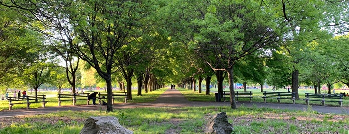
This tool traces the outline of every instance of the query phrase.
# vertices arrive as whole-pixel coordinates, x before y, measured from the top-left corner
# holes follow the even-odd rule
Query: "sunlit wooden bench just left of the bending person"
[[[58,94],[58,106],[60,106],[62,101],[73,101],[73,105],[76,104],[77,100],[87,100],[89,102],[88,95],[90,93],[80,93],[80,94]]]

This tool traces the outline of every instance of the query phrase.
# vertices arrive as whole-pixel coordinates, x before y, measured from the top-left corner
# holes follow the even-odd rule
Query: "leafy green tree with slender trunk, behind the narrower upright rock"
[[[269,10],[260,9],[262,7],[254,1],[212,1],[205,6],[198,9],[202,17],[193,21],[198,28],[192,44],[206,62],[210,56],[217,60],[220,68],[207,63],[215,71],[227,72],[230,93],[234,94],[236,62],[259,49],[274,46],[279,41],[282,27],[274,23],[280,22],[278,18],[271,17]],[[234,95],[231,95],[231,108],[236,108]]]

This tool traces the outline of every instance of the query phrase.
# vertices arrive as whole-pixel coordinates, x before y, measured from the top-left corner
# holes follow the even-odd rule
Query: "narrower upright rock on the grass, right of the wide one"
[[[205,133],[231,133],[233,125],[228,123],[227,113],[221,112],[208,119]]]

